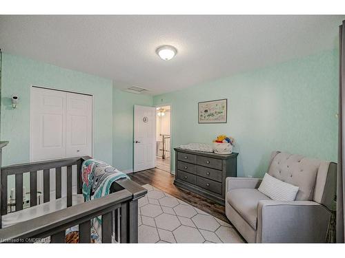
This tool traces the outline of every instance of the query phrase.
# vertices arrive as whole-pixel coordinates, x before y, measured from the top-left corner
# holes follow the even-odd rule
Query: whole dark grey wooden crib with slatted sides
[[[8,142],[0,142],[1,149]],[[114,182],[110,195],[90,202],[74,203],[72,194],[72,166],[77,166],[77,196],[81,196],[81,164],[90,157],[66,158],[26,164],[4,166],[0,169],[1,216],[0,242],[31,243],[37,239],[50,237],[50,243],[64,243],[66,229],[79,225],[79,243],[90,243],[91,220],[101,216],[101,242],[137,243],[138,241],[138,199],[146,195],[147,190],[129,179]],[[61,197],[61,169],[66,167],[66,197]],[[43,204],[37,204],[37,173],[43,171]],[[52,173],[55,171],[55,173]],[[23,209],[23,174],[30,173],[29,208]],[[55,198],[50,200],[50,178],[55,174]],[[15,177],[15,211],[8,213],[8,177]],[[79,195],[78,195],[79,194]],[[49,210],[59,202],[63,208],[51,213],[30,217]],[[43,208],[42,208],[43,207]],[[19,214],[22,221],[12,226],[4,225],[5,220]],[[23,214],[21,214],[23,213]],[[18,216],[17,216],[18,217]]]

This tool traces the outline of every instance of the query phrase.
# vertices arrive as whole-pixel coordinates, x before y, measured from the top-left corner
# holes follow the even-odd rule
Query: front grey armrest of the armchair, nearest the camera
[[[324,243],[331,213],[310,201],[262,200],[257,205],[257,242]]]

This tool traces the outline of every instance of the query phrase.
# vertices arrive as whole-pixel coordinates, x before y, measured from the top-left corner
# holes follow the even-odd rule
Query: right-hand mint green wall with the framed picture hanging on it
[[[228,98],[228,123],[199,125],[197,103],[219,98]],[[155,96],[154,104],[172,105],[173,147],[233,136],[239,175],[256,177],[273,150],[337,161],[337,98],[333,50]]]

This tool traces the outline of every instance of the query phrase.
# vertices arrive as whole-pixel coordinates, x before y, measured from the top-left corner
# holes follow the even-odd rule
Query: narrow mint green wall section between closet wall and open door
[[[117,169],[132,171],[134,105],[152,106],[152,96],[121,91],[114,85],[112,91],[113,131],[112,162]]]

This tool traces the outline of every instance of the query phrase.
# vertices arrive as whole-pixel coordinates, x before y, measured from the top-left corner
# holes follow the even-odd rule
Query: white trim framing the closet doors
[[[74,94],[82,94],[82,95],[87,95],[87,96],[91,96],[92,98],[92,139],[91,139],[91,155],[93,158],[93,155],[95,153],[95,96],[94,94],[89,94],[89,93],[85,93],[85,92],[73,92],[73,91],[68,91],[66,89],[57,89],[55,87],[43,87],[43,86],[38,86],[38,85],[30,85],[30,119],[29,119],[29,160],[30,162],[32,162],[32,137],[31,137],[31,126],[32,126],[32,88],[39,88],[39,89],[50,89],[50,90],[55,90],[58,92],[69,92],[69,93],[74,93]]]

